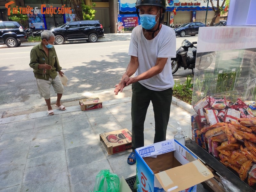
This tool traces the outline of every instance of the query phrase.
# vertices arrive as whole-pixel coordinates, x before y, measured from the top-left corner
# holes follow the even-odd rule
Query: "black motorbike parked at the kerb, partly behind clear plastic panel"
[[[188,48],[196,48],[194,44],[197,42],[190,43],[187,39],[182,41],[181,47],[176,51],[176,58],[172,58],[172,74],[176,73],[179,68],[183,67],[184,69],[192,69],[196,66],[196,49],[192,51],[193,55],[188,55]],[[200,54],[199,63],[201,65],[197,66],[198,70],[205,69],[209,67],[212,63],[212,52],[205,52],[204,54]]]

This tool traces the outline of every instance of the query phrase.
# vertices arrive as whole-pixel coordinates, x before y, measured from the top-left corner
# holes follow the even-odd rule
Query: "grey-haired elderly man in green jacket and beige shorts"
[[[41,97],[44,97],[48,107],[48,114],[54,115],[51,106],[50,87],[52,85],[55,93],[57,93],[57,101],[55,107],[60,110],[66,110],[61,105],[60,99],[64,92],[63,85],[60,81],[58,73],[63,76],[56,51],[53,47],[55,36],[52,32],[45,30],[41,33],[42,42],[35,45],[30,52],[29,66],[33,68],[36,77],[37,89]]]

